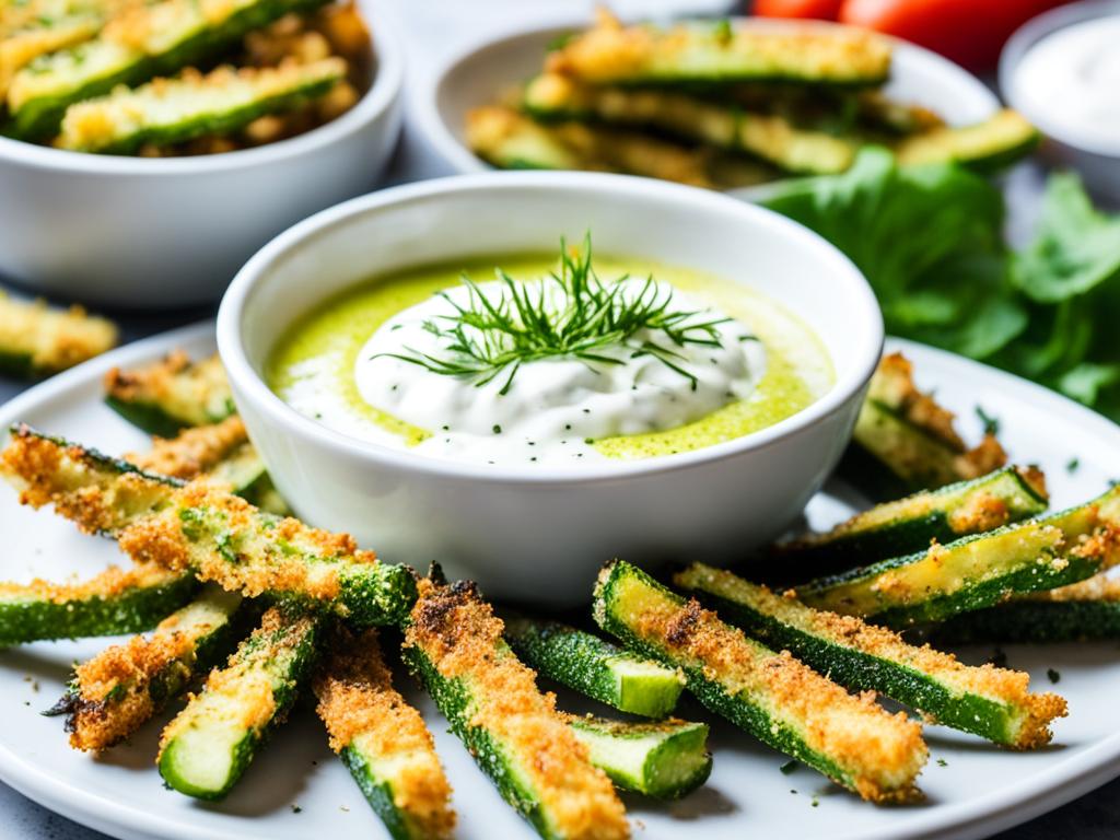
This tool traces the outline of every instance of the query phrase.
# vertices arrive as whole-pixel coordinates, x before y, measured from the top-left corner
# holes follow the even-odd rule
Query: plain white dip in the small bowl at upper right
[[[1120,146],[1120,15],[1058,29],[1024,55],[1012,84],[1021,109],[1082,143]]]

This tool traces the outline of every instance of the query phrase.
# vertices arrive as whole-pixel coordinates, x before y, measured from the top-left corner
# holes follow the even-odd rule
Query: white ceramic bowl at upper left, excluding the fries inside
[[[358,6],[373,32],[373,86],[305,134],[166,159],[0,138],[0,277],[100,306],[211,301],[277,233],[367,192],[400,133],[404,63],[374,0]]]

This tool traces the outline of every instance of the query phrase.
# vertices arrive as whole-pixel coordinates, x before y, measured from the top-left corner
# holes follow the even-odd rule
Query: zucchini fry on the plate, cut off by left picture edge
[[[157,563],[111,566],[80,584],[0,584],[0,645],[140,633],[197,588],[190,575]]]

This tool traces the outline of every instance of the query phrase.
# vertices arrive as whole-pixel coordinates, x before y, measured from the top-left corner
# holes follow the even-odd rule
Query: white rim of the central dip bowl
[[[762,225],[783,231],[801,240],[802,249],[810,249],[824,261],[836,265],[831,283],[841,284],[840,293],[849,295],[857,312],[861,311],[867,323],[866,330],[853,330],[858,345],[852,351],[852,362],[847,371],[839,371],[832,386],[811,405],[773,426],[678,455],[643,458],[633,461],[595,464],[579,468],[524,467],[478,465],[467,461],[442,460],[419,456],[408,450],[390,447],[352,437],[330,429],[305,417],[280,399],[258,374],[245,353],[241,325],[249,310],[250,293],[274,264],[288,254],[304,246],[325,231],[349,224],[353,220],[394,206],[417,202],[439,200],[441,196],[493,192],[535,192],[541,189],[567,189],[595,193],[609,190],[620,193],[631,200],[661,200],[680,203],[685,206],[703,207],[725,214],[737,215],[745,224]],[[353,198],[288,228],[254,254],[237,272],[222,298],[217,315],[217,346],[228,373],[234,393],[253,403],[255,410],[271,423],[293,438],[312,438],[320,445],[363,461],[373,461],[390,468],[433,477],[473,479],[480,483],[516,483],[521,485],[569,485],[595,482],[619,482],[627,478],[653,474],[672,473],[678,469],[701,467],[728,457],[743,456],[756,449],[774,446],[806,429],[825,422],[844,405],[857,398],[878,366],[884,343],[883,314],[867,279],[843,253],[831,243],[806,227],[755,205],[708,190],[670,184],[648,178],[603,172],[482,172],[407,184],[391,187],[366,196]],[[836,360],[833,358],[833,364]]]

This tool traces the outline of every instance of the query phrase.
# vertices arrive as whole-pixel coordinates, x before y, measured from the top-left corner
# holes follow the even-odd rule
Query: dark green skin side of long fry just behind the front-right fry
[[[688,570],[676,584],[715,609],[729,624],[774,650],[787,650],[806,665],[841,685],[877,691],[913,709],[925,712],[939,724],[972,732],[997,744],[1014,745],[1015,728],[1007,704],[973,693],[952,691],[922,671],[857,650],[838,640],[825,638],[805,628],[783,622],[760,603],[724,597]],[[696,585],[696,586],[693,586]]]

